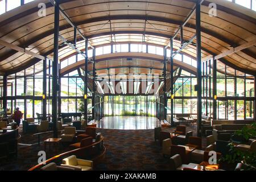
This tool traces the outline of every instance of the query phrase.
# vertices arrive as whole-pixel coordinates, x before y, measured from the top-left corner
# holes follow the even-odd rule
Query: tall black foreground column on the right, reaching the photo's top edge
[[[197,57],[197,136],[201,137],[202,122],[202,75],[201,75],[201,7],[196,2],[196,57]]]

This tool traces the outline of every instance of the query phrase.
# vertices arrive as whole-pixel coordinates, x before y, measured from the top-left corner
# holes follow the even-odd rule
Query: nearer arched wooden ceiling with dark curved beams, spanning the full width
[[[26,48],[40,55],[52,56],[54,10],[48,0],[47,16],[38,16],[38,2],[27,3],[17,9],[0,15],[0,39]],[[195,5],[194,0],[116,1],[89,0],[61,2],[61,8],[73,20],[82,34],[89,38],[93,46],[115,42],[146,42],[166,46],[180,24]],[[209,3],[217,4],[217,16],[208,15]],[[201,6],[201,46],[202,57],[233,49],[256,38],[256,13],[228,1],[208,0]],[[112,31],[110,31],[110,23]],[[146,24],[146,28],[144,27]],[[60,34],[73,40],[73,28],[60,17]],[[195,34],[195,16],[185,25],[184,40]],[[177,36],[177,39],[179,39]],[[78,40],[81,40],[77,37]],[[60,43],[60,59],[73,51]],[[83,48],[83,42],[79,47]],[[176,40],[175,48],[180,45]],[[189,45],[183,52],[196,57],[196,47]],[[249,74],[256,72],[256,48],[243,49],[220,59],[231,67]],[[63,57],[61,57],[63,56]],[[0,70],[13,72],[29,67],[38,59],[0,46]]]

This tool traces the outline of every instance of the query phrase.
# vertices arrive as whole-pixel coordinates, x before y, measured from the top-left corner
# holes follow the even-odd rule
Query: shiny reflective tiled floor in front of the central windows
[[[158,118],[144,116],[105,117],[97,123],[101,129],[148,130],[160,126]]]

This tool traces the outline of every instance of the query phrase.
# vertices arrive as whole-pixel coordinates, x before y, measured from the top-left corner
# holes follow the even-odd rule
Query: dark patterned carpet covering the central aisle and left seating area
[[[174,131],[175,128],[163,129]],[[187,126],[187,131],[196,135],[196,125]],[[104,135],[106,157],[96,166],[96,170],[168,170],[168,159],[164,158],[159,142],[154,140],[154,130],[111,130],[97,129]],[[22,134],[22,133],[21,133]],[[41,140],[52,137],[46,135]],[[37,137],[22,134],[19,143],[32,144]],[[203,139],[205,147],[205,139]],[[38,151],[44,150],[43,143],[33,146],[18,145],[18,158],[1,160],[0,170],[27,170],[38,163]],[[47,151],[47,159],[66,150]]]

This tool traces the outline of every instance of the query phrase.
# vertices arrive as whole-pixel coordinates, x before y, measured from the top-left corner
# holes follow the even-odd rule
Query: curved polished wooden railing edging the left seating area
[[[53,156],[52,158],[46,160],[45,162],[40,163],[40,164],[38,164],[38,165],[36,165],[36,166],[34,166],[34,167],[28,169],[28,171],[34,171],[35,169],[39,169],[40,167],[44,166],[45,164],[47,164],[47,163],[49,163],[49,162],[53,162],[53,160],[59,159],[59,158],[61,158],[61,157],[63,157],[63,156],[66,156],[66,155],[71,155],[71,154],[73,154],[73,153],[75,153],[75,152],[79,152],[79,151],[82,151],[82,150],[86,150],[87,148],[96,146],[97,144],[102,144],[103,150],[102,150],[101,154],[98,155],[97,158],[94,158],[93,160],[98,159],[98,158],[101,158],[101,157],[104,156],[105,153],[106,153],[106,147],[103,145],[103,140],[104,140],[104,137],[101,136],[101,139],[100,139],[98,142],[95,142],[95,143],[93,143],[93,144],[90,144],[89,146],[86,146],[86,147],[77,148],[77,149],[75,149],[75,150],[67,151],[67,152],[64,152],[64,153],[62,153],[62,154]]]

